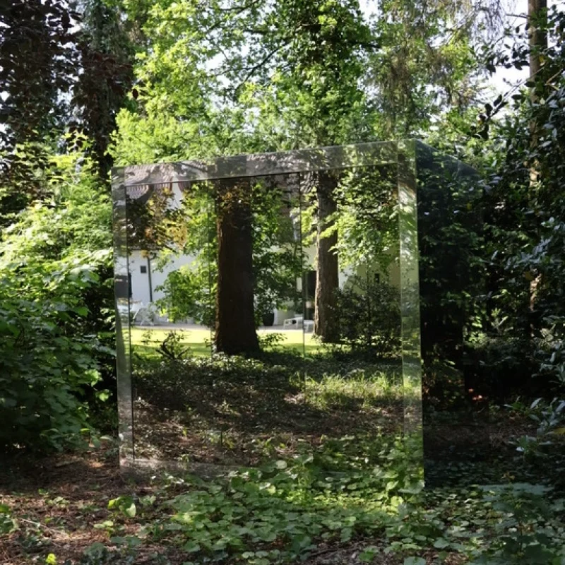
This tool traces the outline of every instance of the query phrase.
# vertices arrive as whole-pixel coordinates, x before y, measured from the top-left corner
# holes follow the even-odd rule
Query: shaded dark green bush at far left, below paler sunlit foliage
[[[88,427],[81,396],[100,381],[100,344],[77,330],[88,315],[81,295],[97,281],[94,268],[37,273],[49,299],[22,297],[25,271],[0,279],[0,446],[61,447]]]

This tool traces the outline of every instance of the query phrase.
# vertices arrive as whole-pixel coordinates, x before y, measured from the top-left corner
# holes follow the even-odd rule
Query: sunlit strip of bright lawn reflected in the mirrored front
[[[131,328],[131,344],[140,354],[153,355],[155,349],[159,347],[167,335],[174,331],[182,335],[182,343],[188,345],[193,350],[196,357],[210,355],[210,341],[213,338],[212,332],[208,328],[175,328],[174,330],[164,328]],[[259,338],[277,333],[284,338],[279,346],[285,349],[295,350],[296,352],[315,353],[321,349],[321,345],[316,342],[311,333],[303,333],[299,330],[280,330],[260,329]]]

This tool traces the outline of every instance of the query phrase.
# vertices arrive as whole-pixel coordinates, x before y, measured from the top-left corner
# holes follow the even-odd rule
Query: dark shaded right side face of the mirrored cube
[[[417,143],[417,221],[427,484],[489,458],[488,391],[472,343],[484,295],[481,184],[462,162]]]

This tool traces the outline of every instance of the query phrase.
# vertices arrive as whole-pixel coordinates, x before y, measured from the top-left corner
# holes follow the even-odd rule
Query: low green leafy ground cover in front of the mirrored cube
[[[105,541],[80,563],[565,564],[563,492],[513,477],[424,488],[418,448],[350,436],[214,479],[155,475],[108,501],[93,525]],[[0,535],[23,532],[15,514],[0,506]]]

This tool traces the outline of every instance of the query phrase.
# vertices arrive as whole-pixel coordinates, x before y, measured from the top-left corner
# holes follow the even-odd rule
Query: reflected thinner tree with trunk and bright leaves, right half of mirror
[[[353,160],[355,162],[355,160]],[[396,167],[349,168],[310,175],[303,183],[305,244],[316,227],[314,333],[339,340],[335,297],[340,271],[398,263]]]

